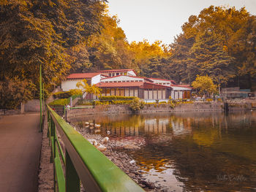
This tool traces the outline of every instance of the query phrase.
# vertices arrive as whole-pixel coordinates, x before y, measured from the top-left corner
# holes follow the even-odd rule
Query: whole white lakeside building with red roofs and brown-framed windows
[[[70,74],[61,82],[63,91],[75,89],[76,84],[86,79],[91,85],[102,88],[103,96],[138,96],[145,100],[190,99],[189,85],[176,85],[173,80],[138,77],[133,69],[113,69],[96,73]]]

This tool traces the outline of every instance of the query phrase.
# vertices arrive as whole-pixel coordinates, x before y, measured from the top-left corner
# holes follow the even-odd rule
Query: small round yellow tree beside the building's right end
[[[197,89],[200,95],[206,94],[209,96],[211,93],[217,93],[217,85],[211,80],[211,77],[197,75],[192,87]]]

